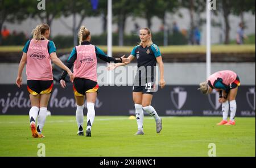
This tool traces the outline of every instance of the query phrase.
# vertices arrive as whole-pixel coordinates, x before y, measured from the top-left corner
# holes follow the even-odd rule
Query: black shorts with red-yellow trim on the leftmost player
[[[27,91],[36,96],[52,92],[53,80],[27,80]]]

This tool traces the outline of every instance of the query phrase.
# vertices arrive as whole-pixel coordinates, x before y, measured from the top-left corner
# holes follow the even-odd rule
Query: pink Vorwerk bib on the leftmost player
[[[53,80],[48,40],[30,41],[27,51],[26,74],[28,80]]]

